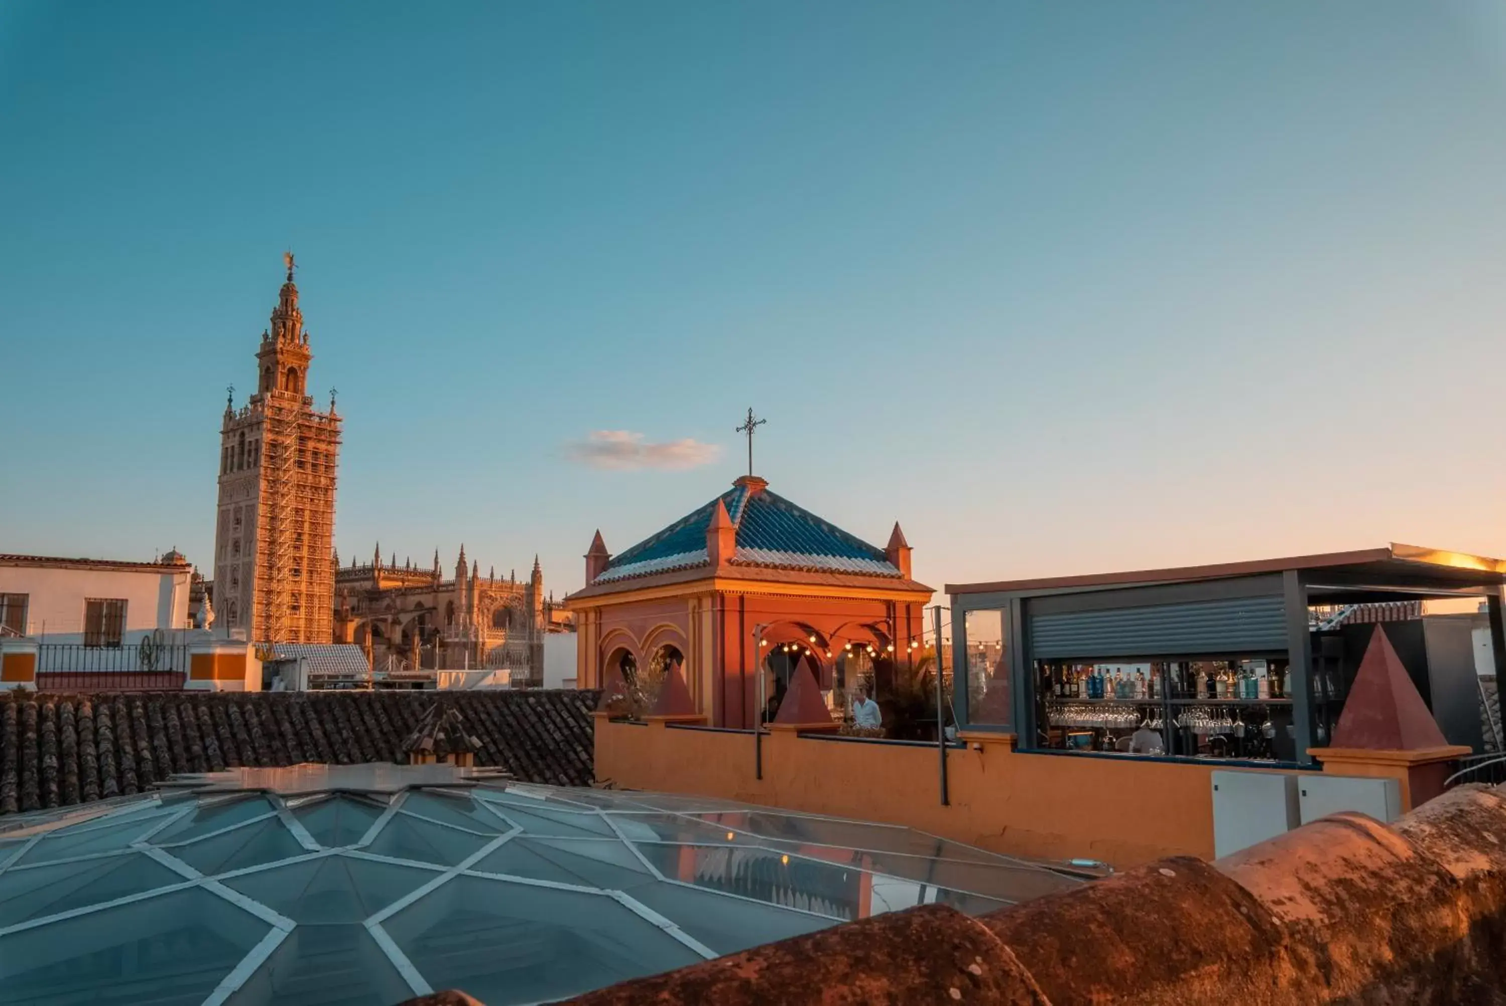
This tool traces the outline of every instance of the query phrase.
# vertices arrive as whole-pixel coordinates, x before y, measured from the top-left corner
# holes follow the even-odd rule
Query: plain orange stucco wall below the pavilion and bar
[[[997,852],[1095,858],[1116,867],[1214,855],[1217,765],[1017,753],[1005,741],[947,753],[950,806],[934,747],[764,736],[596,721],[596,779],[652,789],[905,824]]]

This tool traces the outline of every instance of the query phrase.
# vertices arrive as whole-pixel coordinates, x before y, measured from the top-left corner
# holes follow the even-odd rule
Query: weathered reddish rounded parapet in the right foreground
[[[971,919],[928,905],[571,1000],[626,1003],[1500,1003],[1506,797],[1387,827],[1336,815]]]

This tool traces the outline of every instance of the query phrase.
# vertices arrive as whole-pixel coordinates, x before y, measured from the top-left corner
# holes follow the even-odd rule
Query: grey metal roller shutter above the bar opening
[[[1033,657],[1173,657],[1286,649],[1282,598],[1030,614]]]

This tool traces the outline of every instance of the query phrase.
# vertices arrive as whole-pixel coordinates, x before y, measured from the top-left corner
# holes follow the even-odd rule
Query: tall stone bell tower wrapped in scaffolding
[[[256,351],[256,393],[220,423],[214,607],[256,643],[328,643],[334,608],[334,482],[340,417],[307,395],[309,333],[294,261]]]

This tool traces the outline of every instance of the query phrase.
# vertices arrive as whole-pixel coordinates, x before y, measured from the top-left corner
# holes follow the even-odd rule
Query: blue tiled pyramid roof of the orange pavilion
[[[753,492],[745,485],[736,485],[658,535],[613,556],[596,581],[625,580],[709,562],[706,529],[711,527],[717,500],[726,505],[727,517],[736,527],[736,553],[732,559],[736,565],[901,575],[884,557],[883,548],[869,545],[768,489]]]

